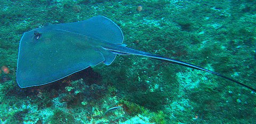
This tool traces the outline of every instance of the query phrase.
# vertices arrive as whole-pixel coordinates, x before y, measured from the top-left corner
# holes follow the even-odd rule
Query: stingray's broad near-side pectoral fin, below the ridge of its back
[[[41,37],[36,39],[32,30],[20,41],[17,83],[22,88],[57,81],[105,60],[86,36],[49,27],[36,30]]]

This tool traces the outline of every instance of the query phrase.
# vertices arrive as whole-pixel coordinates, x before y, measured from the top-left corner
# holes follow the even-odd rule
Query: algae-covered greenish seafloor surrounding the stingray
[[[96,15],[120,26],[127,47],[256,87],[256,1],[4,0],[0,123],[256,123],[256,94],[251,90],[146,57],[117,56],[109,66],[87,68],[48,85],[17,85],[24,32]],[[122,108],[104,114],[115,105]]]

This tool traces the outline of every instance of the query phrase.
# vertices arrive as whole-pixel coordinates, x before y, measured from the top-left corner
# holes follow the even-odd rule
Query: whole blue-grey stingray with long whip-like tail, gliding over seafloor
[[[46,25],[25,32],[20,40],[17,83],[21,88],[58,81],[90,66],[110,65],[116,55],[138,55],[202,70],[253,91],[254,88],[219,73],[180,60],[126,47],[121,29],[105,16]],[[122,75],[121,75],[122,76]]]

